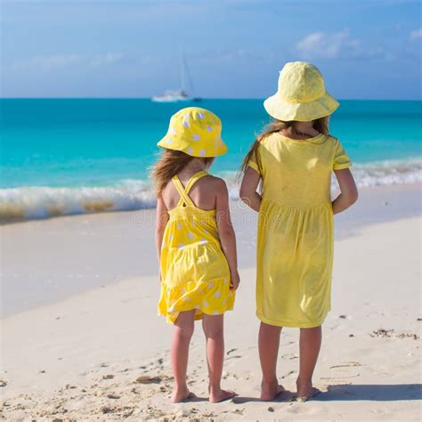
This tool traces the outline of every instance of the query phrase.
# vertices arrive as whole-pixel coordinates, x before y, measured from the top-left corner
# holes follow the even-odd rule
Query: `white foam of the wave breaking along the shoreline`
[[[360,187],[422,182],[422,160],[384,161],[352,167]],[[220,175],[227,181],[231,199],[239,198],[234,172]],[[337,188],[333,177],[332,188]],[[52,188],[30,186],[0,190],[0,220],[45,218],[54,215],[86,214],[155,207],[150,183],[124,180],[110,186]]]

